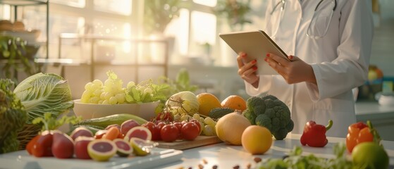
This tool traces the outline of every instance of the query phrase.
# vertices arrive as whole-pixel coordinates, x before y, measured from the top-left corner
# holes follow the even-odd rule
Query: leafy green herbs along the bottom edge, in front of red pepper
[[[257,168],[300,168],[300,169],[342,169],[342,168],[355,168],[352,161],[347,160],[345,156],[346,146],[343,143],[338,143],[333,146],[333,153],[335,158],[320,158],[309,154],[308,156],[302,155],[302,148],[295,146],[290,151],[289,156],[279,158],[267,158],[261,161]]]

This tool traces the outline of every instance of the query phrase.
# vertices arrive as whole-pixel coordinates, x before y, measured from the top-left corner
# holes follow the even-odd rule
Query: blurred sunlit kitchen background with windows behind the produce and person
[[[23,23],[24,31],[13,36],[25,36],[27,46],[37,49],[32,51],[34,68],[68,80],[73,99],[80,99],[87,82],[104,81],[108,70],[125,82],[141,82],[162,76],[173,79],[183,68],[199,87],[197,92],[215,94],[220,100],[231,94],[247,99],[236,54],[218,34],[264,29],[267,1],[248,1],[250,12],[245,18],[250,23],[235,26],[229,25],[234,20],[215,12],[220,0],[182,0],[176,6],[162,6],[166,20],[153,20],[159,14],[144,12],[148,0],[0,0],[0,20]],[[384,140],[394,141],[394,104],[381,105],[376,98],[381,92],[393,92],[394,1],[372,1],[375,30],[370,63],[383,77],[371,73],[372,79],[355,90],[357,120],[372,120]],[[10,32],[0,30],[3,35]],[[1,60],[0,68],[5,64]],[[21,81],[28,75],[13,71],[11,76]]]

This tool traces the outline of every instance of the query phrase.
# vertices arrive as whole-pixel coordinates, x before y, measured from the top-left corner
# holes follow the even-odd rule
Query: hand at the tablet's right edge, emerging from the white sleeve
[[[288,84],[294,84],[298,82],[312,82],[316,84],[316,77],[312,65],[305,63],[297,56],[288,56],[290,61],[281,56],[274,54],[266,54],[266,61],[271,68],[276,70],[279,75],[282,75]]]

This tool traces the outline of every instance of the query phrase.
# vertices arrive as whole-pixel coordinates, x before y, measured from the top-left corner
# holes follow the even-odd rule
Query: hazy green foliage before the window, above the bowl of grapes
[[[163,33],[168,23],[179,15],[181,0],[145,0],[144,33]]]

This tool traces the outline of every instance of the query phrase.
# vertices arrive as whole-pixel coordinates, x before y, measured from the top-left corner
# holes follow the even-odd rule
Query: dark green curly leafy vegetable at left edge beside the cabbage
[[[27,112],[11,91],[11,80],[0,80],[0,154],[18,151],[18,132],[27,122]]]

